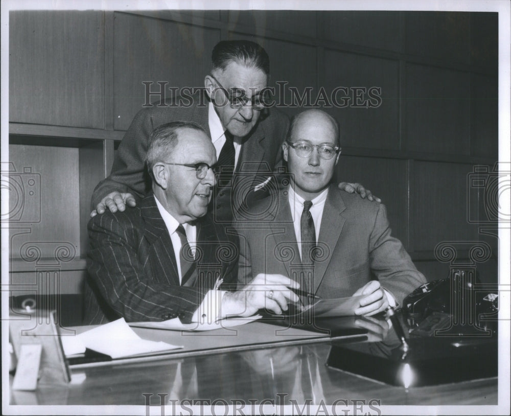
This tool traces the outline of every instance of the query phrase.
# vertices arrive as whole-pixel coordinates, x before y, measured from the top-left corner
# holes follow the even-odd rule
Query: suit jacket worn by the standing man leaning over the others
[[[179,98],[178,98],[179,99]],[[173,105],[166,101],[165,107],[153,105],[143,108],[135,115],[128,131],[115,152],[110,176],[102,180],[92,194],[92,209],[95,209],[101,199],[113,191],[131,192],[136,197],[143,197],[150,190],[150,180],[145,171],[148,138],[153,129],[172,121],[194,121],[207,132],[208,126],[208,100],[203,98],[203,106],[198,96],[193,97],[193,105]],[[185,104],[189,103],[188,100]],[[235,183],[224,190],[218,190],[214,195],[215,219],[229,222],[233,217],[231,203],[234,202],[234,212],[243,206],[250,206],[252,200],[258,198],[253,193],[255,185],[263,182],[271,175],[275,166],[282,159],[281,145],[289,126],[289,120],[282,112],[271,108],[266,109],[260,116],[258,124],[252,132],[245,137],[242,145]],[[231,199],[230,191],[235,190]],[[250,192],[249,192],[250,191]]]

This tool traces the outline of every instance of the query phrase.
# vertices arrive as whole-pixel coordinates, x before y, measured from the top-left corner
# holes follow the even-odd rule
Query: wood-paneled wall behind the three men
[[[65,171],[61,186],[53,173],[57,180],[51,186],[41,183],[41,194],[50,195],[43,234],[53,238],[49,230],[55,228],[59,238],[83,246],[91,183],[78,178],[76,163],[83,174],[102,166],[108,172],[102,165],[111,163],[108,149],[145,102],[142,82],[202,86],[215,43],[253,39],[270,56],[270,85],[286,81],[300,92],[312,87],[313,98],[321,87],[328,93],[339,86],[381,88],[376,108],[325,108],[342,131],[336,175],[382,197],[393,234],[428,278],[437,279],[449,265],[435,260],[436,244],[481,239],[467,217],[469,211],[484,216],[482,194],[470,195],[468,175],[476,165],[491,170],[498,157],[497,27],[496,13],[11,12],[11,131],[57,134],[61,146],[74,133],[104,142],[80,155],[49,148],[48,158],[46,151],[18,144],[11,157],[49,179],[49,167],[39,168],[36,160]],[[153,84],[153,91],[158,88]],[[285,100],[290,99],[287,90]],[[300,110],[284,108],[290,115]],[[89,157],[99,161],[90,159],[87,166]],[[55,208],[69,202],[72,210]],[[61,218],[76,223],[59,227]],[[496,275],[497,243],[488,241],[493,258],[484,267]]]

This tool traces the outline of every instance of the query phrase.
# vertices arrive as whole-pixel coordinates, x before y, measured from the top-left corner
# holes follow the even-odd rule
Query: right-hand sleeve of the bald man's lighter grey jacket
[[[388,290],[400,305],[417,286],[426,283],[424,275],[411,261],[403,244],[391,237],[387,213],[379,205],[373,231],[369,239],[369,261],[381,286]]]

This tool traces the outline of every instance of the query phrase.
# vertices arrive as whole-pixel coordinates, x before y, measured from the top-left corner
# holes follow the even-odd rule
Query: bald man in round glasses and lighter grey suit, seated
[[[292,276],[323,298],[364,295],[355,311],[373,315],[425,282],[399,240],[390,236],[384,205],[330,185],[338,163],[337,122],[320,110],[291,122],[283,144],[290,185],[273,210],[256,204],[252,224],[237,222],[239,282],[258,273]]]

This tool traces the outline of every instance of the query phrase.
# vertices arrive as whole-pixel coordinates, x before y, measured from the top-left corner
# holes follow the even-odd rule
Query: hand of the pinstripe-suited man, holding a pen
[[[259,273],[250,283],[236,292],[227,292],[222,297],[222,317],[227,315],[251,316],[266,308],[276,314],[288,309],[290,302],[299,302],[299,297],[289,288],[299,284],[282,274]]]

